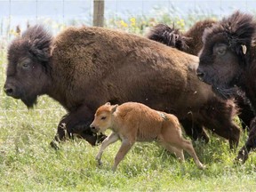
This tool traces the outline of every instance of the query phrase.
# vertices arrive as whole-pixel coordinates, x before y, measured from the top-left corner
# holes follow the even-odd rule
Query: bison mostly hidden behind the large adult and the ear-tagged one
[[[202,36],[205,28],[211,28],[215,20],[200,20],[196,22],[187,32],[181,33],[179,28],[169,27],[164,24],[158,24],[148,33],[148,38],[154,41],[175,47],[180,51],[189,54],[198,55],[203,48]],[[245,97],[244,92],[237,92],[234,95],[236,106],[239,108],[238,116],[241,120],[243,129],[248,129],[254,118],[254,112],[250,101]],[[193,135],[196,138],[196,135]]]

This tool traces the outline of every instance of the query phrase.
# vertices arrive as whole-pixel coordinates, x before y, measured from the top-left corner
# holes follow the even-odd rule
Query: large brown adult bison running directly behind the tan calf
[[[232,123],[234,103],[220,100],[199,81],[198,58],[147,38],[107,28],[68,28],[54,39],[44,28],[28,28],[8,50],[4,90],[28,108],[47,94],[68,110],[56,140],[77,133],[91,144],[89,124],[108,101],[136,101],[203,124],[237,145],[240,130]],[[216,108],[215,106],[218,106]]]

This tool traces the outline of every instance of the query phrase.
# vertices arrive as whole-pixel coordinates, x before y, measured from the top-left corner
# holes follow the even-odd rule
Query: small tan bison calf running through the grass
[[[180,123],[176,116],[153,110],[136,102],[126,102],[120,106],[110,105],[108,102],[97,109],[90,126],[97,132],[105,132],[108,128],[113,131],[102,142],[96,156],[99,164],[101,164],[100,159],[104,149],[116,140],[122,140],[121,148],[116,154],[113,171],[116,171],[117,165],[123,160],[135,141],[153,140],[173,152],[182,162],[184,161],[184,149],[190,156],[193,156],[197,167],[204,169],[191,142],[182,137]]]

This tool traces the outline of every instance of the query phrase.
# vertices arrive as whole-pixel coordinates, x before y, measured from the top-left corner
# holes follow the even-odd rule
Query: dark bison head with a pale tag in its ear
[[[222,98],[233,96],[243,84],[255,28],[252,15],[235,12],[204,31],[197,76]]]

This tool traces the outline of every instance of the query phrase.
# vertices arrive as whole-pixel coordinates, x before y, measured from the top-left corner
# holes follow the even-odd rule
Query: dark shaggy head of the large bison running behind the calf
[[[28,108],[36,104],[38,95],[46,92],[50,78],[52,36],[43,27],[28,28],[12,41],[8,49],[7,77],[4,92],[22,100]]]

